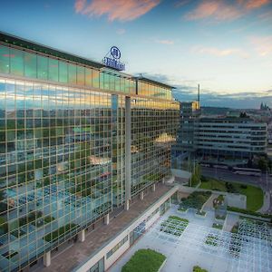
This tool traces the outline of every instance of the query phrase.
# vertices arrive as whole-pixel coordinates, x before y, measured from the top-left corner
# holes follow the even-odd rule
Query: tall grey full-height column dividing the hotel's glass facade
[[[125,98],[125,209],[131,200],[131,97]]]

